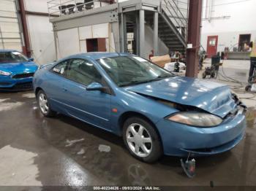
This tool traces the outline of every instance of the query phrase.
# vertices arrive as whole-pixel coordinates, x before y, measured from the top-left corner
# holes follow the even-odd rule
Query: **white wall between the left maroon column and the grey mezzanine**
[[[24,0],[26,11],[48,14],[47,2],[48,0]],[[53,62],[56,59],[55,45],[49,17],[27,14],[26,19],[33,58],[39,65]]]

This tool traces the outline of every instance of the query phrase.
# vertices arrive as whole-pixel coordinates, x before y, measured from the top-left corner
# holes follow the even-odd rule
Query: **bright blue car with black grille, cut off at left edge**
[[[0,50],[0,90],[28,90],[38,66],[15,50]]]

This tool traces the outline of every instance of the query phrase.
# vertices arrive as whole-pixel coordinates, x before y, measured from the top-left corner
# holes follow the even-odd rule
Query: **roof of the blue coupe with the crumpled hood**
[[[130,55],[129,53],[117,53],[117,52],[89,52],[89,53],[82,53],[78,55],[73,55],[72,57],[84,57],[84,58],[91,58],[93,60],[98,60],[100,58],[110,58],[116,57],[121,55]]]

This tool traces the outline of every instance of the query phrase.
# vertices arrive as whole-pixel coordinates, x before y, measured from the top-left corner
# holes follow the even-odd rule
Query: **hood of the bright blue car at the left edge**
[[[0,63],[0,70],[12,72],[12,74],[18,72],[34,72],[38,66],[34,62],[20,62],[20,63]]]

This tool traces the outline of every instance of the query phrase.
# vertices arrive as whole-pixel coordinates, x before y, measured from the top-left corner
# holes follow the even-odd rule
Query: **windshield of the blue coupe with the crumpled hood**
[[[137,85],[174,76],[138,56],[101,58],[98,62],[118,86]]]

